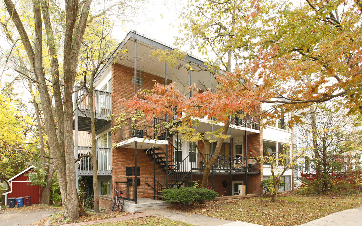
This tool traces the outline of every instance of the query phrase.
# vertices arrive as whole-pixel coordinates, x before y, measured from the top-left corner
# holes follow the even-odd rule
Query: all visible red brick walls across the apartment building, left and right
[[[139,77],[139,71],[137,73]],[[119,64],[112,65],[112,93],[119,95],[120,98],[132,98],[134,96],[134,84],[132,83],[132,77],[134,76],[134,69],[127,68],[126,66],[122,66]],[[143,78],[143,86],[142,89],[151,90],[153,88],[154,82],[152,80],[159,81],[160,83],[164,82],[164,78],[159,77],[157,75],[152,75],[150,73],[146,73],[141,71],[141,78]],[[168,83],[171,83],[171,80],[168,80]],[[137,85],[137,88],[140,88]],[[260,105],[261,107],[261,105]],[[253,113],[260,112],[261,108],[254,109]],[[112,102],[112,113],[115,117],[119,116],[119,114],[124,113],[125,108],[121,105],[121,103],[114,101]],[[114,126],[114,120],[112,120],[112,127]],[[262,156],[262,130],[260,134],[249,135],[248,139],[248,150],[253,150],[254,156]],[[171,141],[171,140],[170,140]],[[112,136],[112,143],[115,142],[115,137]],[[244,139],[245,142],[245,139]],[[198,143],[199,148],[202,152],[204,152],[205,144],[202,142]],[[232,147],[233,147],[233,139],[232,139]],[[245,147],[245,146],[244,146]],[[232,148],[233,149],[233,148]],[[172,146],[169,145],[169,156],[172,156]],[[153,161],[152,159],[146,155],[143,150],[137,150],[137,166],[140,167],[140,186],[138,186],[138,197],[153,197],[153,189],[149,187],[147,183],[153,186]],[[232,150],[233,153],[233,150]],[[248,157],[250,157],[250,151],[248,151]],[[112,152],[113,159],[113,170],[112,170],[112,187],[115,187],[115,182],[126,182],[126,167],[134,166],[134,148],[116,148],[113,149]],[[161,168],[156,166],[156,173],[160,171]],[[244,175],[233,175],[232,181],[244,181]],[[202,175],[194,175],[193,180],[199,180],[201,182]],[[228,186],[223,188],[222,181],[226,180]],[[262,168],[260,175],[248,175],[248,188],[247,192],[250,193],[260,193],[261,188],[259,186],[260,181],[262,180]],[[133,179],[134,181],[134,179]],[[187,183],[186,183],[187,185]],[[219,193],[219,195],[230,195],[230,177],[229,175],[214,175],[214,189]],[[209,176],[209,187],[211,187],[211,174]],[[114,194],[113,194],[114,195]]]

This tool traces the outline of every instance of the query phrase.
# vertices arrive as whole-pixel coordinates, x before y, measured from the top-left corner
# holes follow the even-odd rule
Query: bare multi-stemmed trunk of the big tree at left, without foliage
[[[17,9],[11,0],[4,0],[7,12],[16,27],[28,56],[28,62],[34,73],[37,90],[39,91],[42,107],[44,110],[44,123],[49,138],[50,148],[54,153],[55,168],[58,173],[58,181],[62,194],[64,216],[75,219],[79,213],[85,214],[79,204],[79,197],[76,190],[76,177],[74,167],[73,148],[73,87],[78,64],[79,50],[83,40],[84,30],[87,26],[91,0],[65,1],[65,29],[63,48],[63,75],[64,75],[64,97],[62,100],[59,83],[59,63],[56,50],[56,40],[51,26],[51,11],[49,1],[34,0],[32,4],[34,19],[34,42],[29,39],[28,32],[21,20]],[[49,48],[51,60],[52,88],[55,97],[55,112],[58,122],[57,136],[52,112],[52,100],[47,87],[47,75],[43,68],[43,21],[46,30],[46,43]],[[59,139],[58,139],[59,138]],[[83,211],[82,211],[83,210]]]

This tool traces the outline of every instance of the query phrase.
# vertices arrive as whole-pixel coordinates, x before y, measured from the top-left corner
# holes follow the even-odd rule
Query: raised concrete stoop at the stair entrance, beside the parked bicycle
[[[135,213],[147,209],[163,209],[171,207],[171,203],[163,200],[154,200],[148,198],[137,199],[137,204],[132,201],[126,201],[123,206],[123,211]]]

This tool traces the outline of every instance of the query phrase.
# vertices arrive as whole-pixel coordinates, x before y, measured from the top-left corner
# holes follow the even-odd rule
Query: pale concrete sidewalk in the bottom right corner
[[[347,209],[314,221],[304,223],[300,226],[361,226],[362,225],[362,207]]]

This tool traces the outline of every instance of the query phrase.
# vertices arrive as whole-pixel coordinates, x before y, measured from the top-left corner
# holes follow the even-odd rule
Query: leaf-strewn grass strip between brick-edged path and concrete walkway
[[[153,225],[161,225],[161,226],[192,226],[188,223],[184,223],[182,221],[172,221],[169,219],[165,219],[165,218],[160,218],[160,217],[142,217],[142,218],[137,218],[134,220],[129,220],[129,221],[121,221],[121,222],[117,222],[117,223],[99,223],[99,224],[94,224],[94,226],[138,226],[138,225],[142,225],[142,226],[153,226]]]

